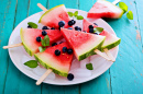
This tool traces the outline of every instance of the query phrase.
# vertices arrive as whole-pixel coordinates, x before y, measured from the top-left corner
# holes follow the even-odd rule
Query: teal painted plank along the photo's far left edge
[[[2,46],[8,45],[10,34],[13,30],[13,22],[15,15],[15,0],[0,1],[0,94],[4,92],[6,78],[9,67],[8,50],[3,50]]]

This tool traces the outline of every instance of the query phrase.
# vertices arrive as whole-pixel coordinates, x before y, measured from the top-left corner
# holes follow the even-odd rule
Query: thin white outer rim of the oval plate
[[[67,10],[75,10],[75,11],[77,11],[78,9],[67,9]],[[78,10],[78,11],[86,12],[86,11],[82,11],[82,10]],[[41,12],[43,12],[43,11],[41,11]],[[28,16],[28,17],[31,17],[31,16],[33,16],[33,15],[35,15],[35,14],[41,13],[41,12],[34,13],[34,14]],[[87,13],[87,12],[86,12],[86,13]],[[22,22],[20,22],[20,23],[16,25],[16,27],[18,27],[19,25],[21,25],[28,17],[25,17]],[[102,19],[98,19],[98,20],[101,20],[102,22],[107,23],[107,22],[106,22],[105,20],[102,20]],[[108,24],[108,23],[107,23],[107,24]],[[108,24],[108,26],[110,27],[111,31],[113,31],[113,28],[112,28],[109,24]],[[11,35],[10,35],[9,45],[10,45],[10,42],[11,42],[11,38],[12,38],[12,35],[13,35],[13,32],[16,30],[16,27],[12,31],[12,33],[11,33]],[[114,33],[114,35],[116,35],[116,32],[114,32],[114,31],[113,31],[113,33]],[[26,77],[29,77],[29,78],[31,78],[31,79],[37,80],[36,78],[31,77],[29,73],[26,73],[25,71],[21,70],[21,69],[19,68],[19,66],[15,63],[15,60],[12,58],[12,55],[11,55],[11,52],[10,52],[10,49],[8,49],[8,50],[9,50],[9,56],[10,56],[10,58],[11,58],[13,64],[18,68],[18,70],[20,70],[23,74],[25,74]],[[119,46],[117,46],[117,50],[118,50],[118,51],[117,51],[117,54],[116,54],[116,58],[117,58],[118,52],[119,52]],[[112,62],[112,63],[113,63],[113,62]],[[109,66],[109,68],[112,66],[112,63]],[[45,81],[43,81],[43,83],[53,84],[53,85],[74,85],[74,84],[80,84],[80,83],[85,83],[85,82],[91,81],[91,80],[94,80],[94,79],[100,77],[100,75],[101,75],[102,73],[105,73],[109,68],[105,69],[105,70],[103,70],[102,72],[100,72],[98,75],[95,75],[95,77],[92,77],[92,78],[89,77],[89,79],[79,80],[78,82],[73,82],[73,83],[52,83],[52,82],[45,82]]]

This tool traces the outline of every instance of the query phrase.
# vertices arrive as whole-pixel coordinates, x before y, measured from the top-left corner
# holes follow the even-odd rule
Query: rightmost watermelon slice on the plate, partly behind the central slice
[[[84,25],[84,31],[87,31],[89,33],[89,25],[92,25],[94,27],[97,27],[97,25],[90,23],[89,21],[85,20],[82,21],[82,25]],[[106,40],[103,43],[103,45],[101,46],[101,50],[105,48],[111,49],[114,48],[116,46],[118,46],[121,42],[121,38],[117,37],[113,34],[110,34],[109,32],[102,31],[99,35],[101,36],[106,36]],[[103,50],[102,50],[103,51]]]

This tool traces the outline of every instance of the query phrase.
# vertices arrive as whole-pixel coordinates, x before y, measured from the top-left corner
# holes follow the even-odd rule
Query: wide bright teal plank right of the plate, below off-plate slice
[[[117,61],[110,68],[112,94],[142,94],[143,93],[143,54],[142,44],[136,32],[140,28],[138,13],[143,9],[139,5],[138,13],[133,0],[122,0],[134,13],[134,20],[129,21],[124,14],[120,20],[107,20],[121,38]],[[138,0],[136,0],[138,1]],[[138,1],[141,3],[142,1]],[[138,4],[136,4],[138,5]],[[140,13],[141,14],[141,13]],[[142,14],[140,15],[142,20]]]

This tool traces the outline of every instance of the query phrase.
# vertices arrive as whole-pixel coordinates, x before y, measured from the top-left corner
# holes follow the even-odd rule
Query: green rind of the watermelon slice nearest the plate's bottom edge
[[[38,56],[36,56],[36,54],[34,55],[35,59],[46,69],[52,69],[54,73],[62,75],[62,77],[67,77],[68,73],[64,73],[63,71],[56,70],[54,68],[52,68],[51,66],[48,66],[47,63],[43,62]]]

